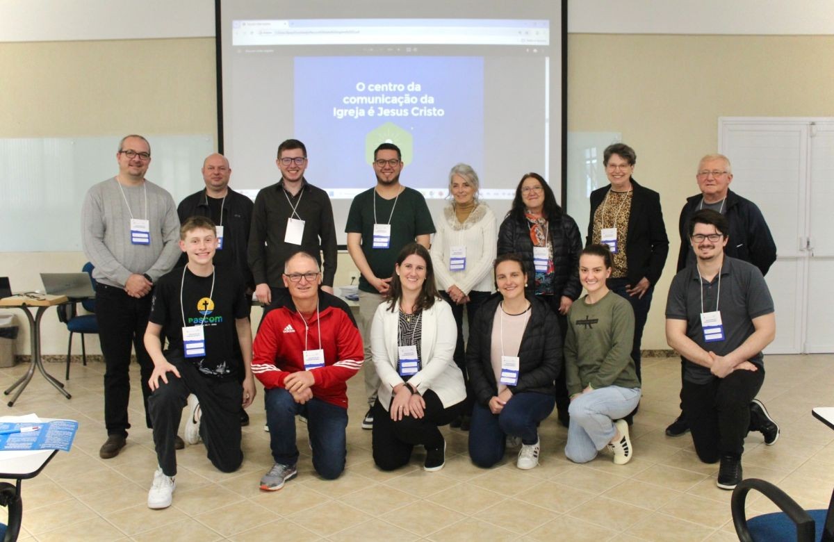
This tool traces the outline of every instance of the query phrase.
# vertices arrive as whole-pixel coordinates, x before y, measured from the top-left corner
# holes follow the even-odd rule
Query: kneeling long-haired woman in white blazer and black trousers
[[[408,464],[425,447],[424,469],[440,470],[446,443],[438,426],[460,414],[463,374],[452,359],[455,317],[437,293],[429,251],[406,245],[397,257],[389,299],[371,325],[371,352],[379,374],[372,449],[380,469]]]

